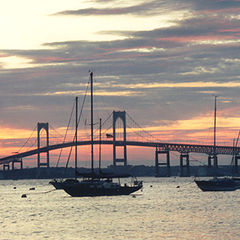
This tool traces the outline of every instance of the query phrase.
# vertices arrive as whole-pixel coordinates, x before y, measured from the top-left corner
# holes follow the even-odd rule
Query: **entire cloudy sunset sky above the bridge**
[[[211,144],[217,95],[217,141],[231,146],[240,127],[239,13],[239,0],[4,1],[0,156],[27,150],[37,122],[54,129],[50,143],[63,136],[89,70],[96,122],[125,110],[155,140]],[[89,99],[89,123],[88,110]],[[152,161],[154,153],[138,152],[129,158]],[[88,155],[86,147],[81,159]]]

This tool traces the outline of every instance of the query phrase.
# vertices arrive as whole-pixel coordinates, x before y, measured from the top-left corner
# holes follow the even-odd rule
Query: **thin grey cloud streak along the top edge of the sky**
[[[106,3],[105,1],[96,1],[101,3]],[[109,1],[107,1],[108,3]],[[111,1],[110,1],[111,2]],[[54,15],[74,15],[74,16],[90,16],[90,15],[156,15],[159,13],[166,13],[166,11],[179,11],[188,9],[188,11],[202,11],[198,14],[204,14],[205,11],[208,12],[221,12],[230,11],[230,13],[238,12],[240,8],[240,2],[238,0],[155,0],[144,2],[140,4],[116,7],[117,4],[121,4],[118,1],[112,1],[114,7],[101,7],[101,8],[86,8],[78,10],[66,10],[62,12],[55,13]]]

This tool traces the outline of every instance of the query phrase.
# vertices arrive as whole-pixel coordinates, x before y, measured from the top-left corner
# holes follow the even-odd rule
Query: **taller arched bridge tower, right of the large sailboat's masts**
[[[116,140],[116,122],[117,120],[122,120],[123,123],[123,144],[120,144]],[[127,165],[127,144],[126,144],[126,112],[125,111],[113,111],[113,165],[117,166],[118,163],[123,163],[124,166]],[[123,151],[123,157],[119,158],[117,156],[118,151]]]

